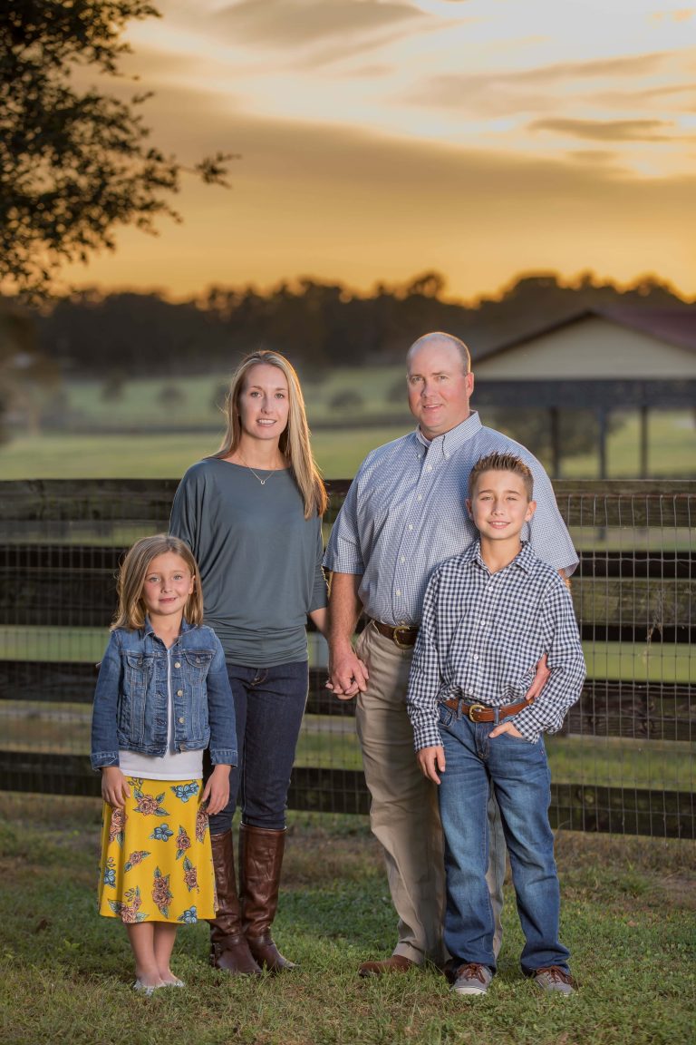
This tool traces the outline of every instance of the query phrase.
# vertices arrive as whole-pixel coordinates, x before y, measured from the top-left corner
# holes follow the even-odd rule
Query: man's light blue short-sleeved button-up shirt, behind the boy
[[[365,612],[384,624],[417,625],[435,566],[477,537],[469,517],[469,474],[486,454],[515,454],[534,478],[536,511],[523,538],[545,562],[570,576],[577,555],[548,475],[513,439],[483,427],[474,411],[429,442],[415,432],[365,458],[331,531],[323,564],[360,574]]]

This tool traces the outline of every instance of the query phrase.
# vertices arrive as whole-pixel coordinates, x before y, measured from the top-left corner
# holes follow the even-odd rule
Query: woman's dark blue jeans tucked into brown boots
[[[210,818],[211,834],[230,831],[238,804],[244,823],[282,831],[307,703],[307,661],[273,668],[229,664],[227,675],[235,698],[239,765],[230,772],[230,802]]]

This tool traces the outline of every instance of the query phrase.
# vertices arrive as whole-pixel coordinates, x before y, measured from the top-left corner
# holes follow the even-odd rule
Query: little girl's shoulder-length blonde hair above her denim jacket
[[[116,628],[127,628],[137,631],[145,623],[145,603],[143,602],[143,584],[147,577],[150,562],[159,555],[173,552],[181,556],[191,571],[193,591],[184,607],[184,617],[189,624],[197,627],[203,623],[203,596],[200,584],[198,563],[188,544],[178,537],[170,537],[166,533],[157,533],[153,537],[142,537],[137,540],[121,564],[116,583],[118,593],[118,609],[112,624]]]

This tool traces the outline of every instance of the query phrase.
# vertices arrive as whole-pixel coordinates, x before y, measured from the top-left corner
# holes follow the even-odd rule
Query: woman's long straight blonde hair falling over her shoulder
[[[246,374],[251,367],[256,367],[260,363],[265,366],[278,367],[285,374],[288,382],[289,411],[287,426],[285,432],[281,434],[280,449],[292,469],[295,483],[299,487],[305,502],[305,518],[310,518],[315,512],[317,515],[323,515],[329,498],[319,469],[312,456],[305,398],[299,387],[299,378],[292,364],[288,363],[280,352],[259,349],[258,352],[251,352],[244,356],[237,367],[230,382],[230,391],[225,401],[227,431],[222,445],[213,457],[231,457],[239,446],[242,435],[239,420],[239,396],[244,388]]]

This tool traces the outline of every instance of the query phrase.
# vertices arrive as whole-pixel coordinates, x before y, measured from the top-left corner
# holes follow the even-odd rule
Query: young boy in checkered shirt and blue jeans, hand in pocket
[[[526,940],[522,970],[545,991],[572,994],[543,734],[560,728],[580,695],[577,623],[563,579],[521,540],[536,507],[527,465],[510,454],[481,458],[469,494],[480,540],[430,578],[408,686],[417,761],[439,785],[452,990],[485,994],[496,972],[485,883],[493,783]],[[528,701],[544,654],[550,676]]]

